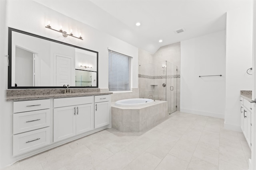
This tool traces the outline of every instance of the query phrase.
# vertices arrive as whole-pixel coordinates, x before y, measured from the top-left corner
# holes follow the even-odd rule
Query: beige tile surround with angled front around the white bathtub
[[[156,100],[146,106],[116,106],[111,104],[112,127],[121,132],[141,132],[167,116],[167,102]]]

